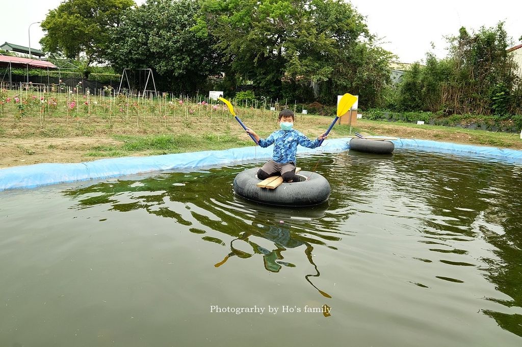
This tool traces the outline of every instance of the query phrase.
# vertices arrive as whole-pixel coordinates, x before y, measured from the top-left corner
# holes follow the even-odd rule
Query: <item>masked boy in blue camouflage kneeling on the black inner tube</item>
[[[270,176],[281,175],[284,182],[300,182],[299,176],[295,175],[297,145],[315,148],[319,146],[319,141],[326,138],[325,133],[312,141],[302,132],[292,129],[294,113],[289,109],[283,109],[279,113],[278,122],[281,130],[272,132],[266,140],[259,138],[252,129],[246,128],[246,132],[253,135],[259,146],[265,148],[274,143],[272,160],[257,171],[257,178],[264,180]]]

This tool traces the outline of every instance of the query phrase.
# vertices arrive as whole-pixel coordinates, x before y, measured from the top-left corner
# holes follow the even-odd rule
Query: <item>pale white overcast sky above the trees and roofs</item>
[[[30,24],[44,20],[49,10],[60,5],[62,0],[2,2],[0,44],[29,46]],[[145,0],[136,2],[141,4]],[[370,32],[380,39],[379,45],[397,55],[396,60],[401,63],[422,61],[426,52],[444,58],[447,54],[444,36],[457,35],[462,26],[471,32],[504,21],[513,46],[521,43],[518,39],[522,36],[522,2],[516,0],[351,0],[351,3],[366,17]],[[43,35],[39,24],[31,26],[31,48],[41,48],[39,41]]]

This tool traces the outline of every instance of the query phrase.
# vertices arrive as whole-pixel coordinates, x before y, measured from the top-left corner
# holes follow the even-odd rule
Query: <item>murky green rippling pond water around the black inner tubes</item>
[[[522,166],[300,157],[305,209],[234,196],[253,166],[0,192],[0,346],[522,345]]]

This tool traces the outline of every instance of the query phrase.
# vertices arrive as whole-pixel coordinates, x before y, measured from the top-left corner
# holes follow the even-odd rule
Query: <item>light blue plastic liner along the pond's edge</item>
[[[339,152],[349,148],[351,138],[326,140],[319,148],[298,147],[298,154]],[[495,147],[461,145],[455,143],[398,139],[393,141],[396,148],[413,147],[421,150],[443,153],[461,153],[506,159],[522,163],[522,151],[504,150]],[[224,151],[203,151],[155,155],[148,157],[123,157],[94,160],[75,164],[36,164],[0,169],[0,191],[15,188],[33,188],[42,185],[102,179],[124,175],[134,175],[151,171],[192,169],[222,166],[254,159],[268,159],[272,156],[272,146],[231,148]]]

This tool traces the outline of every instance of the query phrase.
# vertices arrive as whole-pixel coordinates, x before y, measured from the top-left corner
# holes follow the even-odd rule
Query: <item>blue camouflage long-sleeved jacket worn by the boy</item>
[[[319,139],[310,140],[302,132],[292,130],[276,130],[268,138],[259,139],[259,146],[265,148],[274,143],[274,155],[272,160],[279,164],[293,163],[295,165],[295,153],[297,145],[315,148],[319,146]]]

